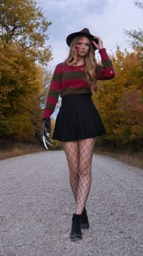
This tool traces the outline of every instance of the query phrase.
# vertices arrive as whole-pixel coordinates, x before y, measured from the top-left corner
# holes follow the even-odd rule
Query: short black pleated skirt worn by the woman
[[[67,95],[56,118],[53,139],[77,141],[106,133],[104,124],[90,94]]]

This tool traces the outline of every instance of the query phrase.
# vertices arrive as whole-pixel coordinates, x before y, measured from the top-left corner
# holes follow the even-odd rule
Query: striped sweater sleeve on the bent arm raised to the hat
[[[101,55],[102,65],[97,65],[96,76],[97,80],[109,80],[115,77],[115,71],[111,60],[108,57],[108,54],[105,48],[99,50]]]

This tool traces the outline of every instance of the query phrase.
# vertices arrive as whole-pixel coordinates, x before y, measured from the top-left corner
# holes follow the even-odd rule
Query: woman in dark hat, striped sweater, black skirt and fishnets
[[[115,72],[101,38],[91,35],[88,29],[68,35],[67,44],[70,52],[65,62],[55,68],[42,127],[50,132],[50,115],[60,94],[62,104],[53,139],[63,142],[67,157],[70,185],[76,202],[70,233],[71,241],[75,241],[82,239],[81,229],[89,228],[85,204],[91,186],[91,160],[96,137],[106,132],[91,95],[97,91],[97,80],[112,79]],[[101,55],[102,65],[96,62],[96,49]],[[43,131],[44,128],[41,133]]]

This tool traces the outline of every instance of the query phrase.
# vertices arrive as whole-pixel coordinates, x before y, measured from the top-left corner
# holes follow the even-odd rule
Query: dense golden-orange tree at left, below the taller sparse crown
[[[18,45],[8,44],[6,49],[0,68],[0,134],[24,139],[32,133],[30,116],[41,87],[41,69],[19,54]]]

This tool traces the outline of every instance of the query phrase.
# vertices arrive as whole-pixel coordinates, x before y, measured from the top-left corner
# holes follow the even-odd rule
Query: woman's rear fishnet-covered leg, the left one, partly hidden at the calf
[[[76,201],[79,184],[79,144],[78,141],[68,141],[63,144],[70,171],[70,186]]]

